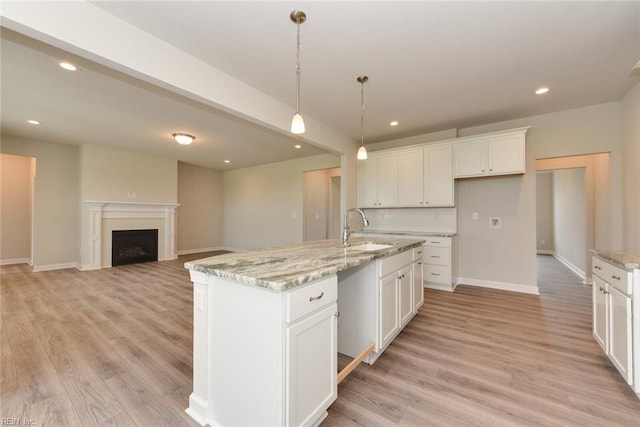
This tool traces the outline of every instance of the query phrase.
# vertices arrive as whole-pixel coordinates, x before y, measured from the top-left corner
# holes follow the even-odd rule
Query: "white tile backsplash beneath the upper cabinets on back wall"
[[[457,232],[456,208],[365,209],[369,230]]]

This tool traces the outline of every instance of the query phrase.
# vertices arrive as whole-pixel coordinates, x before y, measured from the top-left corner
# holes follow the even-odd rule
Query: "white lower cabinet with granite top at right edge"
[[[625,381],[638,393],[640,384],[637,384],[637,373],[634,378],[634,345],[640,349],[640,343],[634,339],[634,332],[638,336],[638,331],[634,331],[633,323],[633,275],[597,257],[593,258],[592,266],[593,337]],[[636,320],[635,328],[638,327]],[[638,350],[635,352],[636,359],[640,359]],[[635,369],[640,369],[640,366]]]

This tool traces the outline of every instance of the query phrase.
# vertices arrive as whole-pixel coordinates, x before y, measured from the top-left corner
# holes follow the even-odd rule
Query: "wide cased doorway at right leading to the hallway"
[[[554,256],[587,284],[590,249],[608,247],[609,161],[609,153],[536,161],[537,252]]]

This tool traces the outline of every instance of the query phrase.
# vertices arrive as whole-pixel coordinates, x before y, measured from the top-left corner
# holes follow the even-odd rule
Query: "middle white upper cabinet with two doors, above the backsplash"
[[[453,206],[451,144],[398,153],[398,206]]]

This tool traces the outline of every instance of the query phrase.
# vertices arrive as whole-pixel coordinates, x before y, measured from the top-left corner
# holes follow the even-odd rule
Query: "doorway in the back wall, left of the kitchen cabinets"
[[[303,174],[303,239],[325,240],[340,236],[340,168]]]

